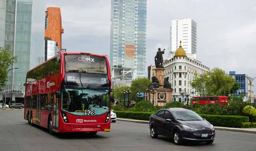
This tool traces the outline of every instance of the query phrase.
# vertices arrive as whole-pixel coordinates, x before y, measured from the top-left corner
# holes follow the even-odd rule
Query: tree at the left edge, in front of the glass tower
[[[12,51],[0,47],[0,91],[6,83],[8,67],[12,66],[17,61],[17,56],[12,57]]]

